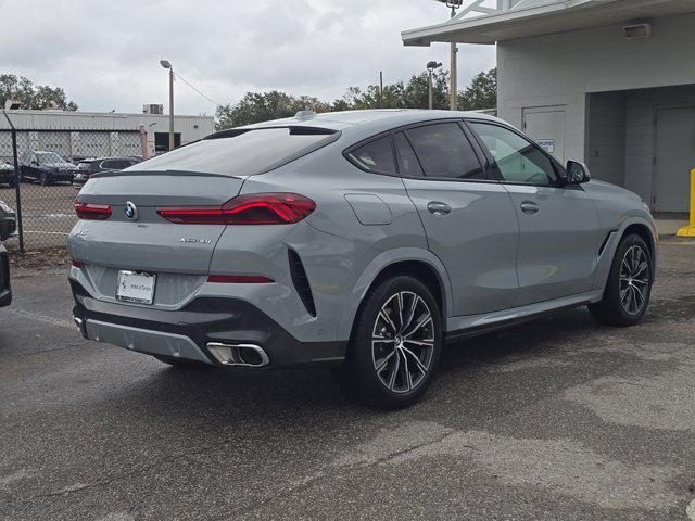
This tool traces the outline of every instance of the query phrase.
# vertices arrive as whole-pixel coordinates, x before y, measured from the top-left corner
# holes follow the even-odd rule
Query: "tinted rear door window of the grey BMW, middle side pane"
[[[438,123],[406,131],[426,177],[485,179],[485,173],[463,129],[456,123]]]

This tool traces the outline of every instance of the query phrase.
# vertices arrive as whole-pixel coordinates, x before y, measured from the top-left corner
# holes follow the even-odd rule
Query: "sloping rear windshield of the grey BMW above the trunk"
[[[334,141],[339,132],[308,127],[232,130],[173,150],[126,170],[179,170],[252,176],[277,168]]]

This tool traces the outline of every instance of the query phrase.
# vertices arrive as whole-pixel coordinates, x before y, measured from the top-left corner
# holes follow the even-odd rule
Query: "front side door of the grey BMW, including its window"
[[[518,216],[516,305],[591,291],[602,240],[594,202],[581,186],[563,186],[559,164],[521,134],[469,124]]]

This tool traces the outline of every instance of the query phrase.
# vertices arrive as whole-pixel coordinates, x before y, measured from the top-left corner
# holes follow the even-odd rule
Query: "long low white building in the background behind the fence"
[[[149,107],[150,105],[146,105]],[[154,105],[157,107],[161,105]],[[7,111],[17,132],[17,149],[50,150],[65,157],[140,156],[140,126],[149,155],[168,150],[168,115],[67,111]],[[11,157],[10,125],[0,114],[0,157]],[[176,147],[215,131],[213,116],[174,116]]]

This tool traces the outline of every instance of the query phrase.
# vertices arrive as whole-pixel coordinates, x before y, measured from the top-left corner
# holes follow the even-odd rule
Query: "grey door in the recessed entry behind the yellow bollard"
[[[654,208],[687,212],[695,168],[695,107],[660,109],[656,118]]]

